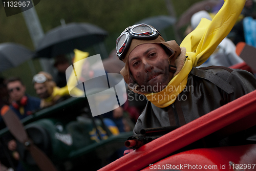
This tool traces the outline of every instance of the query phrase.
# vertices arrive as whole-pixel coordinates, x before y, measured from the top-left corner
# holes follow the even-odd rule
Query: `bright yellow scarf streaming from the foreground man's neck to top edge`
[[[167,87],[161,92],[145,94],[158,108],[174,103],[177,96],[186,88],[187,76],[193,67],[200,66],[215,51],[236,23],[245,0],[226,0],[212,21],[202,18],[198,27],[188,34],[180,47],[186,48],[184,66]]]

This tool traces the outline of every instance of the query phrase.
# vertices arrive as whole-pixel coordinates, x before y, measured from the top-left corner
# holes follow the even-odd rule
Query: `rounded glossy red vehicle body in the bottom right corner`
[[[182,152],[142,169],[256,170],[256,144],[200,148]]]

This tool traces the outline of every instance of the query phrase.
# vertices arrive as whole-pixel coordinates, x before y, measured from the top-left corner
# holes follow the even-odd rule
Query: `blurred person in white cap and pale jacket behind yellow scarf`
[[[206,18],[211,20],[211,16],[207,11],[199,11],[195,13],[191,17],[191,28],[193,30],[196,29],[196,27],[199,25],[202,18]],[[243,62],[243,59],[241,59],[236,54],[236,46],[233,44],[233,42],[228,39],[224,38],[214,53],[210,55],[210,57],[199,67],[209,67],[209,66],[223,66],[223,67],[230,67],[232,65],[235,65],[237,63]]]

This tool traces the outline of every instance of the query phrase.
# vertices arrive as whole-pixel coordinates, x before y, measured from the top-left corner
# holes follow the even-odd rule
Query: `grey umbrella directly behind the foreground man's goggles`
[[[165,15],[159,15],[159,16],[153,16],[153,17],[148,17],[145,19],[140,20],[136,24],[147,24],[150,26],[155,27],[157,30],[163,30],[169,26],[174,25],[176,22],[176,18],[170,17],[170,16],[165,16]]]

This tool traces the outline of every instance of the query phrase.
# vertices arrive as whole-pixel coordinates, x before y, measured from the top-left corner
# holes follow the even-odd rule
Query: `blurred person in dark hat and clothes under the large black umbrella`
[[[69,66],[69,60],[65,57],[65,55],[59,55],[55,58],[54,67],[58,70],[57,76],[55,78],[57,87],[62,88],[67,85],[66,70]]]

